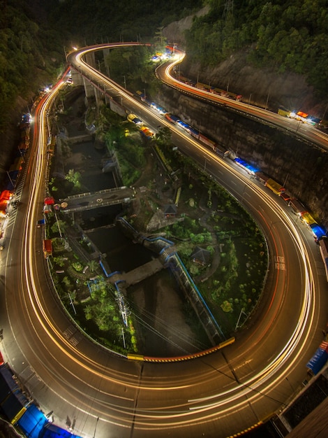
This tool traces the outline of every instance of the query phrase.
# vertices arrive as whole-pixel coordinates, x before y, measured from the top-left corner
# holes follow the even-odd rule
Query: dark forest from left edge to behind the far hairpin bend
[[[54,80],[72,45],[151,38],[202,0],[0,0],[0,134],[17,97]]]

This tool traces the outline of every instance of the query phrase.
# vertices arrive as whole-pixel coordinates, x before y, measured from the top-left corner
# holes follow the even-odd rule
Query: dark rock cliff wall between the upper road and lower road
[[[157,101],[202,134],[233,150],[284,184],[328,227],[328,153],[275,127],[228,108],[184,96],[163,85]]]

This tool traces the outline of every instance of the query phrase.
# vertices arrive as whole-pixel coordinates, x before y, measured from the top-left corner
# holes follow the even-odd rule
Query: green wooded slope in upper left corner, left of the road
[[[61,52],[59,52],[61,50]],[[59,72],[64,50],[59,34],[38,22],[24,0],[0,1],[0,132],[17,97],[31,97]]]

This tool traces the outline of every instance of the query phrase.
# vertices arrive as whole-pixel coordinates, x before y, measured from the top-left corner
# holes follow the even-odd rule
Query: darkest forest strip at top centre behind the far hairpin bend
[[[160,27],[202,7],[202,0],[64,0],[48,9],[52,25],[78,44],[152,38]]]

